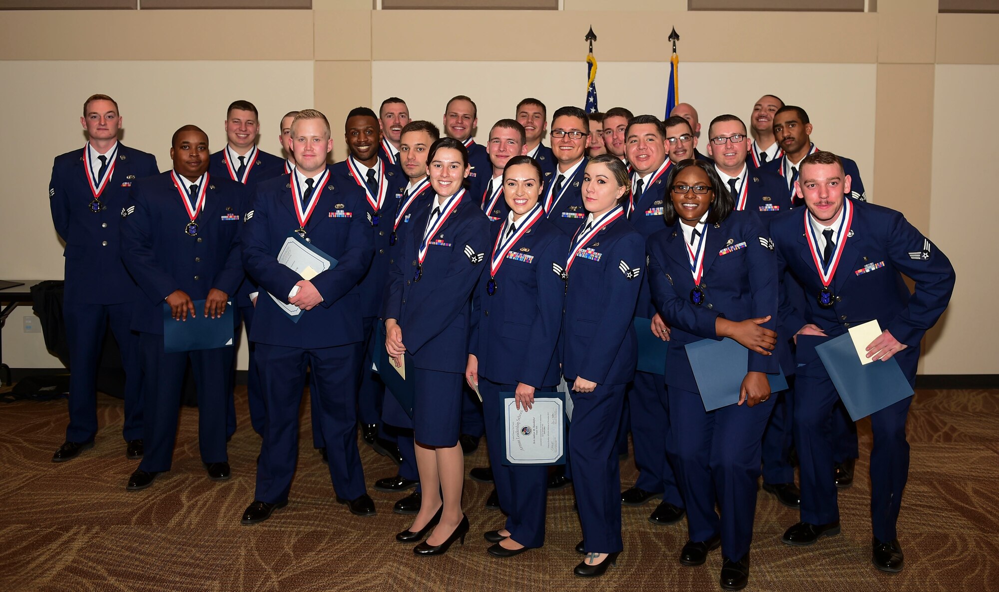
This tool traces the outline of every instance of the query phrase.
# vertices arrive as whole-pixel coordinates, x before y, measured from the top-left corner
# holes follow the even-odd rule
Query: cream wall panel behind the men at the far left
[[[181,125],[202,127],[212,150],[222,149],[226,107],[234,99],[257,105],[263,125],[260,147],[280,153],[280,117],[313,100],[311,61],[6,61],[0,62],[0,80],[6,88],[24,90],[4,98],[8,112],[22,114],[7,126],[18,141],[0,146],[6,184],[0,192],[0,252],[6,254],[0,261],[0,277],[5,278],[63,277],[62,246],[52,228],[48,184],[52,159],[83,147],[80,116],[83,100],[91,93],[106,93],[118,101],[123,142],[155,154],[161,170],[171,166],[170,136]],[[190,92],[189,81],[198,84],[196,93]],[[57,366],[55,358],[38,357],[36,347],[24,345],[24,340],[41,341],[41,334],[21,333],[20,315],[18,311],[17,322],[3,330],[4,362],[14,367]]]

